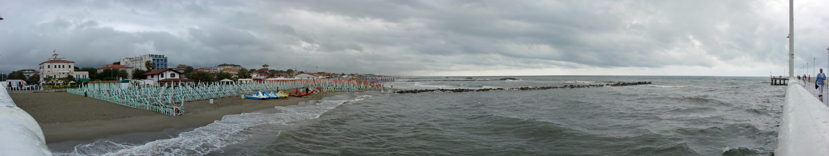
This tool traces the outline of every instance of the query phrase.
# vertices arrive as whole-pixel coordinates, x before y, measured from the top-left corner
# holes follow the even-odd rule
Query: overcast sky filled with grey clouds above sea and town
[[[795,66],[827,68],[829,2],[795,2]],[[394,76],[774,76],[788,1],[0,0],[0,72],[75,66]],[[317,69],[318,68],[318,69]],[[811,72],[811,67],[810,70]]]

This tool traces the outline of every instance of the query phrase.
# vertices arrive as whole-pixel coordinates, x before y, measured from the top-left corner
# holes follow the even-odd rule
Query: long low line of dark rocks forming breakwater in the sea
[[[504,78],[506,79],[506,78]],[[607,84],[609,86],[625,86],[625,85],[653,85],[651,82],[633,82],[633,83],[616,83],[616,84]],[[437,89],[437,90],[397,90],[396,93],[405,94],[405,93],[422,93],[422,92],[431,92],[431,91],[441,91],[441,92],[473,92],[473,91],[489,91],[489,90],[549,90],[549,89],[563,89],[563,88],[589,88],[589,87],[597,87],[597,86],[604,86],[604,85],[564,85],[564,86],[541,86],[541,87],[521,87],[521,88],[510,88],[510,89],[503,89],[503,88],[485,88],[485,89]]]

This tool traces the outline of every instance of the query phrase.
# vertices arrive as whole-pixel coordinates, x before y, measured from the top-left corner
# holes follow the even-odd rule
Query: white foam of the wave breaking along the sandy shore
[[[211,152],[224,152],[222,148],[248,140],[251,127],[258,124],[293,125],[301,120],[317,119],[323,113],[333,110],[338,105],[358,100],[365,100],[372,95],[356,95],[351,100],[319,100],[311,105],[276,106],[280,113],[243,113],[225,115],[221,120],[190,132],[179,134],[177,138],[159,139],[143,145],[118,144],[107,139],[100,139],[92,144],[79,144],[69,154],[58,155],[205,155]],[[335,95],[339,96],[339,95]]]

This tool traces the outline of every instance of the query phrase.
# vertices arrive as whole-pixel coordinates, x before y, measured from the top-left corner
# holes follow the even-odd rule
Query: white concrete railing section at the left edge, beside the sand
[[[0,89],[0,155],[52,155],[41,126]]]

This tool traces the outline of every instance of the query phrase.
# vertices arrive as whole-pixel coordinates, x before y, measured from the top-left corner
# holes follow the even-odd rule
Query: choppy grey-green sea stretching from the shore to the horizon
[[[504,77],[518,80],[498,80]],[[768,77],[463,78],[400,79],[386,85],[405,90],[654,85],[346,92],[227,115],[196,129],[50,147],[60,155],[770,155],[784,91],[768,85]]]

